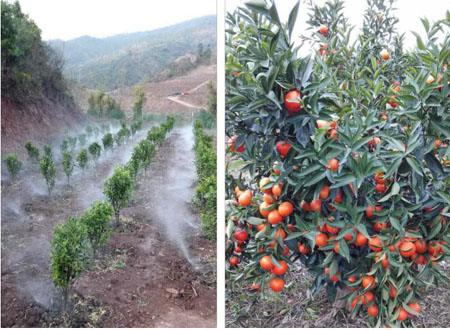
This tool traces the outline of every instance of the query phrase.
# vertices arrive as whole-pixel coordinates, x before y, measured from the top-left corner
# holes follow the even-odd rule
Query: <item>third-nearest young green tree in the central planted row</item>
[[[120,210],[128,205],[132,189],[130,172],[120,167],[116,167],[114,174],[105,182],[103,193],[114,209],[116,227],[119,225]]]

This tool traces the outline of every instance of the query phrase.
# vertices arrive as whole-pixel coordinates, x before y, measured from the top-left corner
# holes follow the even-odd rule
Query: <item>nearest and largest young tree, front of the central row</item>
[[[51,278],[63,291],[66,310],[70,287],[84,269],[86,227],[71,217],[55,227],[50,244]]]

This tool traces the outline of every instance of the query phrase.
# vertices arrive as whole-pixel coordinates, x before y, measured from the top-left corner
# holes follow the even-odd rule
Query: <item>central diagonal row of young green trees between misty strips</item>
[[[106,202],[98,201],[80,217],[69,217],[55,227],[51,241],[51,277],[63,291],[64,309],[71,285],[88,265],[89,252],[95,258],[96,250],[107,242],[112,227],[119,226],[120,212],[129,203],[136,178],[147,170],[156,147],[173,125],[174,119],[168,117],[165,123],[151,128],[134,148],[131,159],[115,168],[104,184]],[[113,215],[114,226],[111,225]]]

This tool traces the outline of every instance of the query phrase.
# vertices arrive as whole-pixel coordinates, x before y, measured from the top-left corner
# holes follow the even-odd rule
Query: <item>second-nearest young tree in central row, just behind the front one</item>
[[[105,202],[96,202],[80,218],[86,228],[86,235],[91,244],[94,258],[96,250],[108,240],[110,235],[108,224],[111,221],[112,214],[111,205]]]

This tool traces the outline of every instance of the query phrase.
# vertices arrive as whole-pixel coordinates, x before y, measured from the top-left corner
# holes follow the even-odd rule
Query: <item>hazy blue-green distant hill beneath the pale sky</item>
[[[62,54],[69,79],[89,89],[111,91],[144,79],[160,80],[168,66],[189,53],[198,55],[198,64],[207,64],[216,48],[216,16],[152,31],[50,40],[48,44]],[[164,79],[169,77],[163,74]]]

